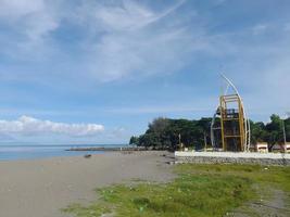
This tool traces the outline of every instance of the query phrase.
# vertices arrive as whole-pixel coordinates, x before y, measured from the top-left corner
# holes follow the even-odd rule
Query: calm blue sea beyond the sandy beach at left
[[[85,154],[101,154],[103,151],[65,151],[72,148],[125,146],[124,144],[0,144],[0,161],[39,159],[54,156],[78,156]]]

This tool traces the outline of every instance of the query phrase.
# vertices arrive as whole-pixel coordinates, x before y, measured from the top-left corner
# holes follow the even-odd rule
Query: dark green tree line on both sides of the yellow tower
[[[185,148],[203,149],[211,146],[211,120],[203,117],[199,120],[171,119],[159,117],[148,125],[148,129],[139,137],[133,136],[129,143],[154,150],[177,150],[181,142]],[[251,143],[267,142],[269,149],[283,142],[283,125],[287,141],[290,141],[290,118],[281,119],[273,114],[269,123],[252,122]]]

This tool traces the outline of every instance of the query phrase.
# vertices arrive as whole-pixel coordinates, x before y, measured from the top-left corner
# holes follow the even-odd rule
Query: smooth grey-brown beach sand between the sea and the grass
[[[133,179],[168,181],[167,152],[112,152],[47,159],[0,162],[0,217],[63,217],[60,209],[86,204],[93,189]]]

